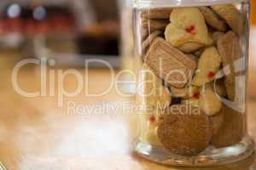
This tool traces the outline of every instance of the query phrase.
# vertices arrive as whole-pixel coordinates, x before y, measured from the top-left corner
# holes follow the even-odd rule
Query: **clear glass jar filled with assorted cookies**
[[[140,156],[207,167],[253,153],[248,20],[246,0],[134,3]]]

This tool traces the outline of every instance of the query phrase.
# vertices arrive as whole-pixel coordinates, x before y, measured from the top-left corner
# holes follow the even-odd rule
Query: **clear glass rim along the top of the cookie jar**
[[[227,3],[249,3],[250,0],[134,0],[137,8],[211,6]]]

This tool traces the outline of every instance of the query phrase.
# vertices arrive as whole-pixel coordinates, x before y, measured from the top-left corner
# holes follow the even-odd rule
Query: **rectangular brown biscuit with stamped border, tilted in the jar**
[[[152,42],[144,62],[158,77],[176,88],[183,88],[196,69],[193,59],[160,37],[156,37]]]

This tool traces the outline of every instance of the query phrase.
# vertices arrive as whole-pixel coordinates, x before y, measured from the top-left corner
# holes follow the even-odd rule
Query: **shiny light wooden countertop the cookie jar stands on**
[[[1,59],[0,59],[1,60]],[[131,98],[119,96],[113,89],[101,97],[84,94],[66,98],[63,108],[57,107],[57,97],[25,98],[16,94],[10,84],[8,64],[0,62],[0,160],[10,170],[182,170],[199,168],[164,167],[132,153],[136,116],[118,107]],[[55,70],[56,71],[56,70]],[[79,70],[84,77],[84,70]],[[55,74],[56,75],[56,74]],[[99,93],[108,86],[106,70],[89,71],[90,93]],[[73,90],[76,82],[67,77],[65,88]],[[20,87],[36,91],[40,87],[38,68],[20,71]],[[55,87],[57,85],[55,84]],[[57,89],[57,88],[56,88]],[[116,109],[90,115],[67,111],[67,102],[77,105],[116,105]],[[104,102],[104,103],[102,103]],[[249,102],[249,131],[256,139],[256,101]],[[80,111],[80,110],[79,110]],[[86,111],[85,111],[86,113]],[[254,170],[255,157],[225,167],[204,169]]]

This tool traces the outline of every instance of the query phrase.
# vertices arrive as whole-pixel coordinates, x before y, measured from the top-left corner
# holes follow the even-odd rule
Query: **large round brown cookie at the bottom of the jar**
[[[158,136],[173,154],[196,156],[207,148],[212,132],[209,118],[199,108],[172,105],[160,117]]]

